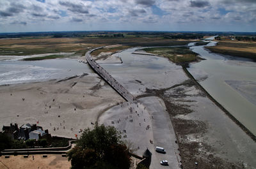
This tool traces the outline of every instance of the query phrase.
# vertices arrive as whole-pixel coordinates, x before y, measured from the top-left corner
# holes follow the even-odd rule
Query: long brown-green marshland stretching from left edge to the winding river
[[[186,45],[189,40],[170,40],[163,37],[126,37],[126,38],[51,38],[27,37],[19,39],[0,39],[0,55],[33,55],[58,52],[76,52],[84,55],[90,48],[123,45],[123,47],[109,48],[110,51],[122,50],[127,47],[152,47],[169,45]]]

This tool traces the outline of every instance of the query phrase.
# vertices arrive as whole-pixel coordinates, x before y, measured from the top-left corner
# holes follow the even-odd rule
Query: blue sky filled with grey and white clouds
[[[0,0],[0,33],[256,32],[256,0]]]

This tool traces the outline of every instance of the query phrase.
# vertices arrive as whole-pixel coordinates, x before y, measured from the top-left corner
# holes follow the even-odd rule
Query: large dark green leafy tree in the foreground
[[[128,169],[131,165],[129,150],[122,136],[113,126],[95,124],[85,129],[77,145],[68,152],[72,169],[106,168]]]

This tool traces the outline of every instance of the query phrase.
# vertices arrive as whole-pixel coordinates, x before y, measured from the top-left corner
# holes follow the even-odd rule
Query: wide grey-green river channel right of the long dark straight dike
[[[214,46],[210,41],[207,46]],[[230,114],[256,135],[256,62],[214,54],[204,46],[190,47],[206,59],[190,64],[189,72]]]

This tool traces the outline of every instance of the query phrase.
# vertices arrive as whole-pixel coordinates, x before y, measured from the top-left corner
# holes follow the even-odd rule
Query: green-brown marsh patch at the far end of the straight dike
[[[148,53],[168,57],[170,61],[175,63],[196,61],[196,59],[198,58],[197,54],[189,50],[188,47],[159,47],[145,48],[143,50],[145,50]]]

